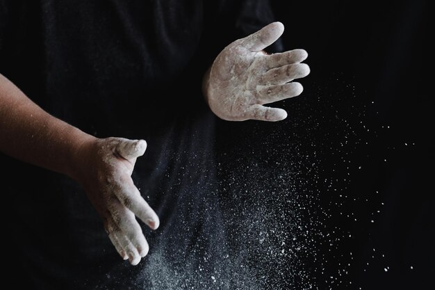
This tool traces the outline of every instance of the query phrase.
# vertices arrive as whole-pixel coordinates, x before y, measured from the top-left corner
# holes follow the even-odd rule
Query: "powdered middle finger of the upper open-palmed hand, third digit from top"
[[[268,70],[260,76],[259,82],[264,85],[281,85],[300,79],[310,73],[310,67],[305,63],[296,63],[293,65],[284,65],[283,67],[275,67]]]

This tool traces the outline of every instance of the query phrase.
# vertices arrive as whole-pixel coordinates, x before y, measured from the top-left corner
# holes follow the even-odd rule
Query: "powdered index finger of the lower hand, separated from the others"
[[[138,218],[140,218],[151,229],[158,228],[160,220],[156,212],[151,209],[149,204],[142,198],[140,192],[136,186],[134,186],[131,179],[126,182],[121,182],[117,188],[115,188],[115,195],[120,200],[124,207],[133,211]]]

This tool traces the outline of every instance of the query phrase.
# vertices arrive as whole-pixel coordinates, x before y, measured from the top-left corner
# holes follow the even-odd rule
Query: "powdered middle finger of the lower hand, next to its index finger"
[[[117,227],[122,230],[133,246],[136,247],[140,257],[145,257],[149,251],[149,245],[134,214],[120,203],[113,206],[110,209],[110,213]]]

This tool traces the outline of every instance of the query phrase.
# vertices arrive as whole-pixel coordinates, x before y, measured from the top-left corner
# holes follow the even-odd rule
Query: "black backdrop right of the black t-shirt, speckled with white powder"
[[[434,288],[429,1],[272,6],[311,74],[285,121],[218,121],[236,289]]]

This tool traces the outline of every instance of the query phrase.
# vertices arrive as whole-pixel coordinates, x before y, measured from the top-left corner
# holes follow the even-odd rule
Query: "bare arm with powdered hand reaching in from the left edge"
[[[133,265],[149,250],[136,216],[151,229],[159,225],[131,179],[146,147],[145,140],[85,134],[49,115],[0,74],[0,152],[76,179],[115,249]]]

